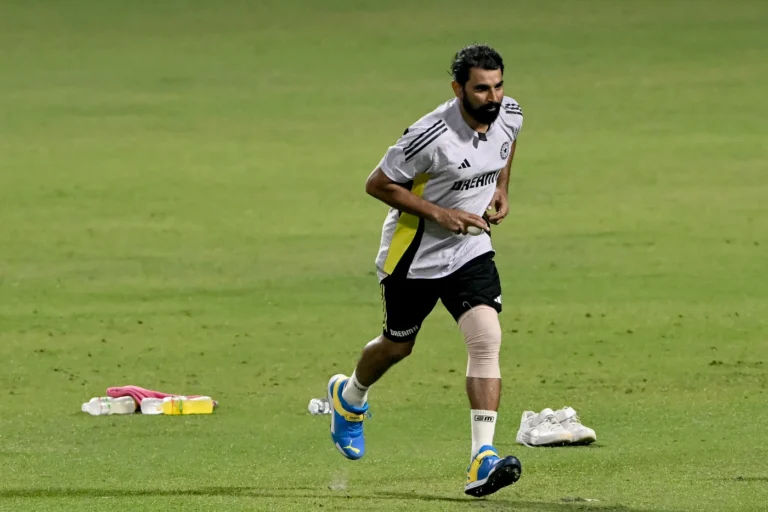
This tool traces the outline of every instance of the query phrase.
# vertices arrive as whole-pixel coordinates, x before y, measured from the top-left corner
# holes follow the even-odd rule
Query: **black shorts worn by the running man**
[[[501,312],[501,281],[493,252],[470,260],[453,274],[439,279],[387,276],[381,281],[384,336],[392,341],[413,341],[424,319],[440,299],[458,321],[475,306]]]

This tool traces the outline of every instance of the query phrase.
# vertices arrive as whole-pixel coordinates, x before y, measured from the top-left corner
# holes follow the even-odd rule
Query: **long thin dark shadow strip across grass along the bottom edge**
[[[505,499],[496,495],[487,499],[440,496],[432,494],[408,492],[373,492],[371,494],[348,494],[346,492],[323,491],[316,487],[277,487],[274,489],[259,489],[256,487],[198,487],[194,489],[94,489],[94,488],[27,488],[5,489],[0,491],[2,498],[136,498],[141,496],[230,496],[243,498],[286,498],[286,499],[317,499],[322,500],[398,500],[413,501],[414,506],[419,502],[440,502],[481,505],[483,510],[532,510],[563,512],[566,510],[600,511],[600,512],[639,512],[623,505],[601,505],[600,503],[542,503],[515,499]],[[653,512],[644,510],[644,512]],[[656,511],[658,512],[658,511]]]

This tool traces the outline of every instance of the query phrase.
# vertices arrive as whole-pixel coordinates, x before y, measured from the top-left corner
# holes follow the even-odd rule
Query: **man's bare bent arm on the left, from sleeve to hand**
[[[454,233],[466,234],[469,226],[488,231],[488,225],[482,217],[430,203],[401,184],[392,181],[378,167],[368,176],[365,191],[392,208],[435,222]]]

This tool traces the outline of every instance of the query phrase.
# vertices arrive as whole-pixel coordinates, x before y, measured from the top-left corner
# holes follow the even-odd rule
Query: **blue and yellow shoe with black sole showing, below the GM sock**
[[[498,491],[502,487],[512,485],[520,479],[523,466],[517,457],[499,458],[496,448],[485,445],[467,469],[467,485],[464,493],[479,498]]]

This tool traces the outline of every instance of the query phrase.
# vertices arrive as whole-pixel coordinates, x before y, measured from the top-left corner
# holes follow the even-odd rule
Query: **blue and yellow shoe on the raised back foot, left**
[[[348,459],[358,460],[365,455],[363,420],[368,404],[363,407],[349,405],[341,396],[349,378],[338,374],[328,381],[328,402],[331,404],[331,439],[336,449]]]

